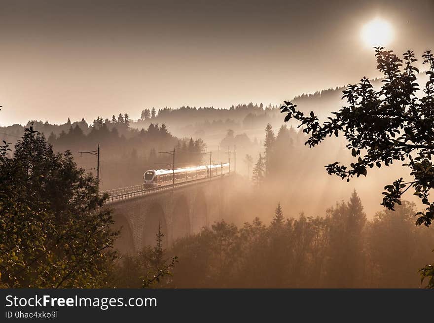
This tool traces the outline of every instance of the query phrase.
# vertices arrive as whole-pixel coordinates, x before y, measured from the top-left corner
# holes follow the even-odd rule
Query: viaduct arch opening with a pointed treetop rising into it
[[[164,234],[163,247],[167,247],[167,225],[166,216],[163,208],[158,203],[153,203],[149,206],[145,216],[145,226],[142,234],[142,246],[154,246],[156,243],[156,234],[158,227],[161,227],[161,232]]]

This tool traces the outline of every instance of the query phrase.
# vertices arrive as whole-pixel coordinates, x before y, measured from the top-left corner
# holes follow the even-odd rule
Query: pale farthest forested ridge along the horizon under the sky
[[[379,80],[373,80],[373,83],[379,83]],[[342,91],[345,86],[316,91],[311,94],[301,94],[294,98],[288,98],[298,106],[303,112],[308,113],[311,110],[317,114],[327,114],[336,110],[341,105]],[[7,107],[4,107],[7,108]],[[249,103],[232,105],[231,107],[214,108],[214,107],[189,107],[182,106],[179,108],[144,108],[141,111],[141,117],[137,120],[131,119],[127,113],[113,114],[111,116],[97,116],[93,121],[73,120],[65,115],[65,123],[52,124],[49,120],[29,120],[26,125],[2,125],[0,126],[0,137],[5,137],[13,141],[13,137],[21,137],[25,127],[33,124],[34,128],[43,132],[48,138],[51,133],[60,136],[62,132],[68,133],[70,128],[79,128],[84,134],[90,133],[93,127],[98,123],[105,123],[109,127],[116,126],[121,134],[128,136],[124,124],[130,128],[141,130],[147,129],[153,124],[163,124],[170,126],[172,132],[178,129],[187,129],[198,131],[200,129],[218,129],[224,132],[227,129],[260,129],[263,130],[265,125],[270,122],[282,123],[280,114],[280,104],[267,106],[262,103]],[[135,111],[131,111],[135,112]],[[136,114],[136,113],[135,113]],[[0,120],[1,122],[1,120]],[[1,123],[0,123],[1,124]],[[9,138],[8,138],[9,137]]]

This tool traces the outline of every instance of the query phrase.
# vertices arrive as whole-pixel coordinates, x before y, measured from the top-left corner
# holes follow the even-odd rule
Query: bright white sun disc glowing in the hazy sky
[[[371,20],[362,28],[362,39],[367,46],[387,46],[394,38],[392,25],[381,18]]]

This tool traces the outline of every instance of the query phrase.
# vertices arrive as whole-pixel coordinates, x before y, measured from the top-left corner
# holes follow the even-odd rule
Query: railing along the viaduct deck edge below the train
[[[102,192],[100,192],[100,195],[104,195],[105,193],[107,193],[109,195],[109,198],[107,199],[106,203],[113,203],[113,202],[117,202],[117,201],[121,201],[121,200],[127,200],[127,199],[137,197],[137,196],[155,194],[157,192],[171,190],[172,188],[188,186],[188,185],[196,184],[199,182],[206,182],[206,181],[215,180],[215,179],[219,179],[219,178],[227,177],[227,176],[229,176],[228,173],[216,175],[216,176],[213,176],[211,178],[206,177],[203,179],[192,179],[192,180],[181,181],[179,183],[175,183],[175,185],[165,185],[165,186],[146,188],[146,189],[144,188],[143,184],[134,185],[134,186],[129,186],[129,187],[122,187],[122,188],[116,188],[116,189],[111,189],[111,190],[107,190],[107,191],[102,191]]]

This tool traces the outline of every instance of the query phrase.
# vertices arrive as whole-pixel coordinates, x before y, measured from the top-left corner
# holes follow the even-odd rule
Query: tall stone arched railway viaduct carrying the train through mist
[[[142,185],[108,191],[107,207],[120,229],[115,248],[135,253],[154,245],[158,228],[164,246],[219,220],[227,208],[232,175],[144,190]]]

